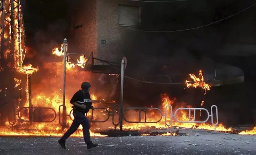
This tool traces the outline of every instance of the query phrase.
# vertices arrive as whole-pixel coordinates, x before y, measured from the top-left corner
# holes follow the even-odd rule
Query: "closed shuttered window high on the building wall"
[[[140,26],[140,7],[118,6],[118,25],[120,26]]]

